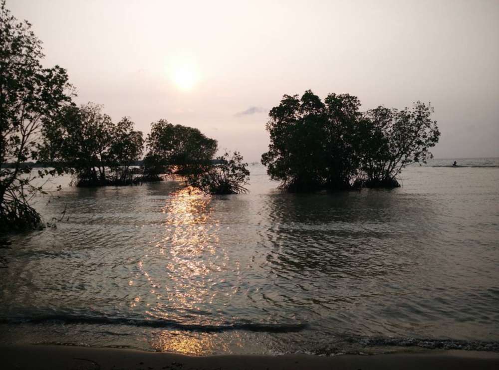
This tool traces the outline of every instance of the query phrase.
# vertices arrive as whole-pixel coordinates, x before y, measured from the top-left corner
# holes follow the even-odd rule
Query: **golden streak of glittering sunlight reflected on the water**
[[[219,222],[212,219],[211,202],[211,196],[192,187],[180,189],[166,200],[162,208],[165,235],[154,243],[151,252],[167,257],[165,261],[168,262],[163,268],[154,270],[139,263],[143,276],[153,288],[151,295],[158,299],[148,310],[151,317],[171,320],[170,310],[200,312],[206,309],[204,305],[213,303],[213,294],[210,294],[214,283],[212,271],[220,271],[221,266],[207,258],[215,255],[220,241]],[[191,324],[201,323],[194,320]],[[175,336],[169,338],[174,338],[175,342],[164,343],[163,347],[174,346],[173,350],[180,353],[193,351],[191,342],[179,341]]]

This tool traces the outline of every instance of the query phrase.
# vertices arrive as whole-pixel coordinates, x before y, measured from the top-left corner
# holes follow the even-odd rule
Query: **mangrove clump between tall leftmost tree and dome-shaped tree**
[[[66,107],[43,130],[43,159],[76,177],[77,186],[129,185],[130,166],[140,159],[143,138],[124,117],[114,124],[102,106]]]

